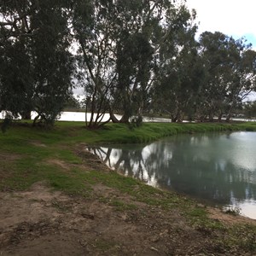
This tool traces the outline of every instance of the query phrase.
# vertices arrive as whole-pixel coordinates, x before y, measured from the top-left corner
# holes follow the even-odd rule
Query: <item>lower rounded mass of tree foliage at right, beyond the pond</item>
[[[194,33],[191,27],[179,34],[183,47],[173,57],[169,49],[162,50],[160,79],[153,90],[154,111],[167,113],[174,122],[184,118],[213,121],[215,117],[221,121],[224,114],[229,121],[255,90],[255,51],[244,38],[203,32],[197,43]]]

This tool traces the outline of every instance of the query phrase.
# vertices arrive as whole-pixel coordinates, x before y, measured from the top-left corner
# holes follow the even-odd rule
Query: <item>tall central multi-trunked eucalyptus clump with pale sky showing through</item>
[[[160,51],[178,48],[178,33],[189,26],[191,15],[166,0],[93,0],[73,9],[73,33],[79,44],[80,70],[90,120],[96,128],[107,111],[113,121],[142,119],[152,99],[149,90],[158,79]],[[172,54],[172,57],[175,53]],[[171,58],[172,58],[171,57]],[[165,60],[168,62],[168,60]],[[114,118],[113,112],[123,114]]]

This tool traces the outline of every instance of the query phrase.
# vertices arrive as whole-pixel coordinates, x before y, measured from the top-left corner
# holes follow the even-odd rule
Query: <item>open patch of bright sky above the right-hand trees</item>
[[[199,32],[223,32],[233,38],[247,38],[256,49],[256,0],[187,0],[189,9],[195,9]]]

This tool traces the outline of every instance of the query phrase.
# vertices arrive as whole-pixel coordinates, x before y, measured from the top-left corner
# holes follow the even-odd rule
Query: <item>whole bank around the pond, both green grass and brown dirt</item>
[[[232,129],[255,129],[255,124]],[[210,128],[211,127],[211,128]],[[110,171],[88,143],[146,142],[231,126],[108,125],[0,135],[2,255],[253,255],[256,224]],[[234,128],[235,127],[235,128]]]

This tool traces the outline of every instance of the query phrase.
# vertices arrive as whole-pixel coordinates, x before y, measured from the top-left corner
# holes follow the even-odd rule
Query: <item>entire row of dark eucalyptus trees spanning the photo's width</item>
[[[182,0],[0,0],[0,111],[52,125],[75,81],[90,128],[105,113],[229,121],[256,90],[256,53],[222,32],[196,41],[195,15]]]

